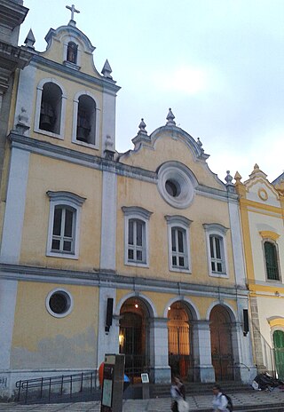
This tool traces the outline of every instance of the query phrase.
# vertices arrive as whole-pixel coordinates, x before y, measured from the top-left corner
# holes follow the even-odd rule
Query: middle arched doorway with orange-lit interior
[[[175,302],[168,311],[169,365],[173,376],[193,381],[191,313],[185,303]]]

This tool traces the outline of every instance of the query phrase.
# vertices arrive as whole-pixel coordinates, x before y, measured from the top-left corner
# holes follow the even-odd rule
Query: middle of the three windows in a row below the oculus
[[[171,265],[174,268],[187,268],[185,229],[171,228]]]

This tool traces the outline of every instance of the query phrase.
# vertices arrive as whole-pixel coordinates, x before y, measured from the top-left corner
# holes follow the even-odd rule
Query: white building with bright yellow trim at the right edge
[[[250,324],[259,372],[284,379],[284,179],[270,183],[257,164],[236,189],[247,265]]]

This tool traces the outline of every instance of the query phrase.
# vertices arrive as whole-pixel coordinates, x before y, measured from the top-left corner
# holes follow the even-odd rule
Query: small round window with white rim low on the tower
[[[46,308],[52,316],[63,318],[71,312],[73,299],[71,295],[62,289],[52,290],[46,297]]]

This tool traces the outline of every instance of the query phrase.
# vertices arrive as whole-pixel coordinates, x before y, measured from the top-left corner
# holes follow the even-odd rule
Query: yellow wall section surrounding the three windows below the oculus
[[[118,212],[116,261],[119,273],[143,277],[162,278],[193,283],[229,284],[234,282],[233,255],[230,231],[227,232],[227,255],[230,279],[209,277],[208,254],[204,223],[218,223],[230,227],[226,202],[195,195],[185,210],[177,210],[162,199],[158,187],[133,178],[118,177]],[[139,206],[153,214],[149,220],[149,268],[124,265],[124,214],[122,206]],[[168,227],[166,215],[181,215],[193,221],[190,226],[190,253],[192,274],[169,270]]]

